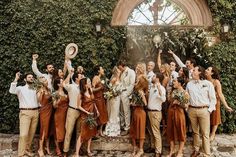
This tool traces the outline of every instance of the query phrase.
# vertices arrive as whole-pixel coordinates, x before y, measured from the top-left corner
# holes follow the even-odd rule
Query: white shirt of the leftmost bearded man
[[[19,99],[20,108],[37,108],[39,107],[37,101],[36,90],[29,89],[29,85],[16,86],[16,82],[11,83],[9,92],[11,94],[16,94]]]

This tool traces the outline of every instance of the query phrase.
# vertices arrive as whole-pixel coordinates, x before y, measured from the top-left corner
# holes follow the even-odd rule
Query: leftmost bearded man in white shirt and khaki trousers
[[[18,143],[18,156],[33,156],[30,147],[38,124],[39,105],[37,101],[36,90],[31,89],[34,77],[28,73],[25,75],[25,86],[17,86],[20,73],[16,73],[15,80],[11,83],[9,92],[16,94],[19,100],[19,119],[20,119],[20,136]]]

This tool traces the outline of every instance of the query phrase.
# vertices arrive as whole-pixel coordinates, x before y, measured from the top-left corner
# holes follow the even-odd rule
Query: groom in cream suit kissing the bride
[[[127,135],[130,128],[130,100],[129,96],[133,91],[135,84],[135,72],[130,69],[124,61],[118,62],[118,68],[121,71],[120,81],[122,84],[122,93],[121,93],[121,107],[123,108],[123,116],[121,119],[124,119],[124,131],[121,132],[121,135]]]

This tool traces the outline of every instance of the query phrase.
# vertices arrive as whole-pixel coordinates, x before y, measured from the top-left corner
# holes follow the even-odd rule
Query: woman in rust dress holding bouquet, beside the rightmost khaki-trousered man
[[[189,95],[184,90],[183,85],[185,81],[182,77],[178,77],[173,80],[174,90],[170,96],[170,106],[168,108],[168,118],[167,118],[167,139],[170,143],[170,153],[167,157],[171,157],[175,150],[175,141],[179,141],[179,150],[176,157],[183,156],[184,143],[186,141],[186,121],[184,114],[184,107],[186,104],[180,104],[179,100],[176,99],[175,94],[183,93],[185,98],[188,100]],[[180,106],[181,105],[181,106]]]

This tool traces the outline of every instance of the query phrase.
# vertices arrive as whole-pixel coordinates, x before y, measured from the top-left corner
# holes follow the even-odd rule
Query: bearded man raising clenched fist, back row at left
[[[33,61],[32,61],[32,70],[34,72],[34,74],[37,76],[37,77],[44,77],[47,79],[48,81],[48,88],[50,90],[52,90],[52,74],[53,74],[53,70],[54,70],[54,67],[52,64],[46,64],[46,71],[47,71],[47,74],[43,74],[39,71],[38,67],[37,67],[37,58],[38,58],[38,54],[33,54],[32,56],[33,58]]]

